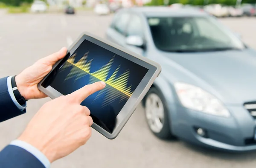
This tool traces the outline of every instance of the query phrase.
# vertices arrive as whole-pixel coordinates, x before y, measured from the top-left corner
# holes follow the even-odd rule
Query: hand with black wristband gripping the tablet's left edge
[[[67,49],[64,47],[60,51],[38,60],[17,75],[15,81],[21,96],[26,100],[47,97],[38,90],[37,85],[52,70],[52,66],[66,54]]]

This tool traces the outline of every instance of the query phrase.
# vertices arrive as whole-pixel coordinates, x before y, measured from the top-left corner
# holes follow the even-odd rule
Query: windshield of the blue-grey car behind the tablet
[[[156,47],[169,52],[244,49],[236,35],[213,17],[149,17]]]

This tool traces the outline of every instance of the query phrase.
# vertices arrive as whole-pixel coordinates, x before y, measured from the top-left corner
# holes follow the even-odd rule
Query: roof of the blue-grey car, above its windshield
[[[146,17],[189,17],[189,16],[207,16],[208,14],[197,9],[182,9],[171,7],[132,7],[122,11],[136,12],[144,14]]]

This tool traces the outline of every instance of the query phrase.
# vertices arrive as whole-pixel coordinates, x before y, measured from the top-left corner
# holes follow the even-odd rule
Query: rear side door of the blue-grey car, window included
[[[131,14],[128,12],[117,13],[107,30],[106,38],[120,46],[125,46],[125,33]]]

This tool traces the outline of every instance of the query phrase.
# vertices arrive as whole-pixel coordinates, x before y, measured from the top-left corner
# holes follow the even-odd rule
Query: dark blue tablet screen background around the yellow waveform
[[[74,62],[78,62],[88,51],[89,54],[87,55],[87,61],[93,59],[90,64],[90,73],[96,72],[104,65],[108,64],[111,58],[113,58],[113,56],[115,55],[113,52],[104,49],[101,46],[84,40],[78,47],[78,49],[76,49],[76,51],[74,52],[76,53]],[[72,56],[73,55],[71,55],[70,57]],[[55,70],[54,78],[51,79],[49,83],[51,87],[53,87],[55,90],[63,95],[70,94],[87,84],[91,84],[95,81],[100,81],[94,76],[84,73],[83,70],[74,67],[73,64],[70,64],[67,61],[64,64],[69,65],[65,68],[64,66],[61,66],[58,70]],[[134,92],[134,90],[140,84],[140,81],[142,81],[145,74],[148,72],[148,69],[146,69],[145,67],[142,67],[119,55],[115,55],[106,80],[111,77],[113,72],[115,72],[118,67],[119,70],[116,74],[116,77],[122,75],[126,70],[130,70],[128,81],[125,84],[125,87],[131,86],[132,92]],[[81,71],[83,75],[79,75],[78,78],[78,75],[74,75],[73,73],[72,77],[69,77],[67,79],[67,76],[70,76],[69,74],[72,71],[72,68],[76,68],[76,71]],[[128,98],[129,96],[106,84],[106,87],[102,91],[98,91],[90,95],[81,103],[81,105],[87,106],[90,109],[93,122],[104,128],[108,132],[112,133],[114,127],[116,126],[116,116],[125,105]]]

